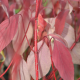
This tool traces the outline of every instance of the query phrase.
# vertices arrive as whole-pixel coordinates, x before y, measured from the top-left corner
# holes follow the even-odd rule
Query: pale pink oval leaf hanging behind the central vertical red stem
[[[38,50],[41,47],[43,41],[38,42]],[[33,79],[36,79],[35,75],[35,56],[34,52],[30,52],[27,58],[27,65],[30,75]],[[46,43],[43,44],[38,53],[38,69],[39,69],[39,79],[45,76],[51,67],[50,51]]]

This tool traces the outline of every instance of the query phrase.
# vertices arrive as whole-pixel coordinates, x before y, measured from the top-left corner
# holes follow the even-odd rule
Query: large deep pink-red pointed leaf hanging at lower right
[[[74,80],[74,66],[67,47],[61,42],[54,40],[52,60],[64,80]]]

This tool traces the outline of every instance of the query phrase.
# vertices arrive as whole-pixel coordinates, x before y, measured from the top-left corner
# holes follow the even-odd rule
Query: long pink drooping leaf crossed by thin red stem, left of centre
[[[25,36],[26,30],[27,30],[26,36],[27,36],[27,39],[29,40],[29,42],[31,41],[31,38],[33,37],[32,24],[30,23],[29,28],[28,28],[28,24],[29,24],[30,19],[29,19],[28,15],[26,15],[24,13],[25,13],[25,10],[21,10],[19,12],[19,14],[21,14],[22,16],[19,16],[18,29],[17,29],[17,32],[16,32],[13,40],[12,40],[13,48],[15,51],[17,51],[18,47],[22,43],[22,40]],[[24,41],[20,47],[19,54],[23,54],[23,52],[27,49],[27,47],[28,47],[28,42],[25,37]]]

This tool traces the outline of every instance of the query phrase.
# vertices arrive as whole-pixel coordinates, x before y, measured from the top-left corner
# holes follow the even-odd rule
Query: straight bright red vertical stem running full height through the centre
[[[36,70],[36,80],[38,80],[38,55],[37,55],[37,17],[39,12],[39,2],[41,0],[36,0],[36,14],[35,14],[35,29],[34,29],[34,44],[35,44],[35,70]]]

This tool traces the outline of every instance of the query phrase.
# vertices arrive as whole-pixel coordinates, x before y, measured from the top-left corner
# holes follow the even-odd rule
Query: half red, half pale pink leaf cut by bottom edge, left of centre
[[[12,80],[30,80],[27,63],[23,59],[21,60],[20,55],[16,58],[14,58],[15,62],[12,67]]]

